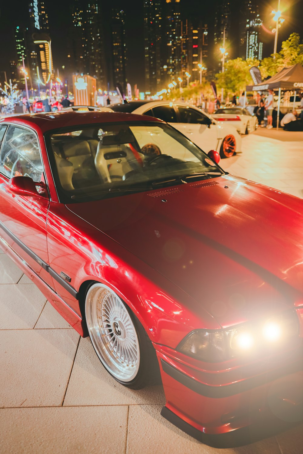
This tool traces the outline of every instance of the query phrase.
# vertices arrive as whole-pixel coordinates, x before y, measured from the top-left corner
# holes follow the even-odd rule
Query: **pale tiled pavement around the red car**
[[[303,197],[302,142],[250,135],[231,173]],[[218,453],[160,416],[161,386],[116,383],[0,249],[0,453]],[[226,454],[302,454],[302,427]]]

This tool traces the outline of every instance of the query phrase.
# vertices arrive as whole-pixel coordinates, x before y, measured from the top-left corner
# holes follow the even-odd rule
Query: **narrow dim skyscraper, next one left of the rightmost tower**
[[[216,12],[214,20],[214,52],[219,55],[219,48],[223,44],[223,35],[225,28],[225,47],[228,48],[228,56],[231,57],[231,50],[228,46],[230,41],[231,33],[231,12],[230,12],[230,1],[218,0],[216,2]],[[222,55],[221,55],[222,57]],[[219,63],[221,66],[221,63]]]

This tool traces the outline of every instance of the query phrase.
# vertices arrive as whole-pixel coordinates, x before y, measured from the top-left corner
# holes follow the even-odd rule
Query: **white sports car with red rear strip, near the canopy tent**
[[[258,118],[243,107],[225,107],[211,114],[220,124],[233,122],[239,134],[252,133],[258,128]]]

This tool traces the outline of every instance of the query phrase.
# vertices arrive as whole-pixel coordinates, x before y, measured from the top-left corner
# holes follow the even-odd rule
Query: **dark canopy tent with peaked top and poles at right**
[[[303,90],[303,66],[299,63],[281,69],[278,74],[275,74],[270,79],[264,80],[261,84],[246,86],[246,91],[278,90],[277,129],[279,127],[281,90],[294,91],[294,107],[297,90],[300,91],[301,89]]]

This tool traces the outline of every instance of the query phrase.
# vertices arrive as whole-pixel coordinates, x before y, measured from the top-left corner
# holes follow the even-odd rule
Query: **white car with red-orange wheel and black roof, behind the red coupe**
[[[160,118],[178,129],[205,153],[216,150],[221,158],[229,158],[241,151],[241,137],[236,128],[231,124],[220,124],[202,110],[179,101],[130,101],[105,109]]]

